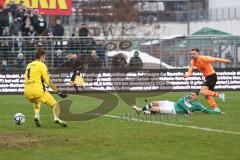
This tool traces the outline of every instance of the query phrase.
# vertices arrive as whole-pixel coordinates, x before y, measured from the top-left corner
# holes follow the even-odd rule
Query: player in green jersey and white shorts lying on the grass
[[[186,95],[180,98],[177,102],[171,101],[153,101],[145,105],[143,108],[139,108],[136,105],[133,109],[137,112],[144,112],[147,114],[161,113],[161,114],[192,114],[195,111],[204,113],[222,113],[220,111],[205,108],[197,99],[199,92],[192,91],[190,95]]]

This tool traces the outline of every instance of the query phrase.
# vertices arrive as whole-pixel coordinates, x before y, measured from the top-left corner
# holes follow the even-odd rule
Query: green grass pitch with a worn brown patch
[[[186,92],[168,93],[149,100],[177,100]],[[166,121],[183,126],[197,126],[240,133],[239,92],[225,92],[227,101],[218,101],[226,115],[196,113],[192,119]],[[134,93],[126,93],[131,97]],[[146,96],[148,94],[146,93]],[[57,97],[58,100],[60,100]],[[73,113],[93,109],[101,100],[71,95]],[[137,98],[143,105],[144,98]],[[201,96],[200,100],[206,105]],[[22,112],[26,122],[17,126],[12,116]],[[118,106],[108,115],[133,113],[119,98]],[[89,121],[69,122],[68,128],[53,123],[51,110],[42,106],[42,128],[33,123],[31,104],[21,95],[0,96],[1,160],[239,160],[240,134],[139,123],[99,117]]]

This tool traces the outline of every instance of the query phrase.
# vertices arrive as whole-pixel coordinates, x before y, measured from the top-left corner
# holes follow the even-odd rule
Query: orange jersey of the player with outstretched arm
[[[213,57],[199,56],[196,60],[193,59],[191,61],[191,67],[196,67],[200,72],[202,72],[204,77],[207,77],[216,73],[211,62],[214,62]]]

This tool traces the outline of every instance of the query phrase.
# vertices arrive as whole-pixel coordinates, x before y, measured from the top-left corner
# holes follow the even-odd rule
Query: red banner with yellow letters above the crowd
[[[71,15],[72,0],[15,0],[16,4],[23,1],[27,8],[38,9],[45,15]],[[5,7],[11,0],[0,0],[0,6]]]

